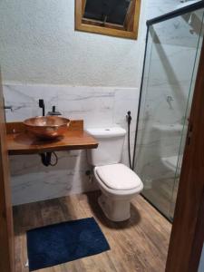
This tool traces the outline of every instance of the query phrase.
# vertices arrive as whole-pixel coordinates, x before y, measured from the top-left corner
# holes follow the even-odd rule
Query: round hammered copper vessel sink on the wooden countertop
[[[60,116],[37,116],[24,121],[26,130],[37,138],[51,140],[63,136],[70,120]]]

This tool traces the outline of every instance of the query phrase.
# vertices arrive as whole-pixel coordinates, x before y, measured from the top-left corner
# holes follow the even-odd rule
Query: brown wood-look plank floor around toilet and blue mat
[[[130,220],[113,223],[103,216],[97,204],[98,196],[97,191],[15,207],[15,272],[28,271],[24,267],[27,229],[87,217],[97,220],[111,250],[38,271],[164,271],[170,223],[141,196],[132,201]]]

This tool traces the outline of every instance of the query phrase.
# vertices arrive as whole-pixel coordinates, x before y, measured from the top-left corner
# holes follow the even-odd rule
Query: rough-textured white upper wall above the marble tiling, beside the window
[[[0,3],[6,82],[135,87],[139,43],[74,31],[74,0]]]

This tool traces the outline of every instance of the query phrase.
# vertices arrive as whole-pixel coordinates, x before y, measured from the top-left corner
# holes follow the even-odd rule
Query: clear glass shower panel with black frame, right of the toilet
[[[204,9],[151,24],[141,87],[134,170],[142,195],[173,218],[203,39]]]

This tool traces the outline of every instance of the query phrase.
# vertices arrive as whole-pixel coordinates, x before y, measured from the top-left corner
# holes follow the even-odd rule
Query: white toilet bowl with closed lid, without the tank
[[[121,163],[96,166],[93,173],[102,190],[98,203],[106,217],[112,221],[130,219],[131,199],[143,189],[137,174]]]

